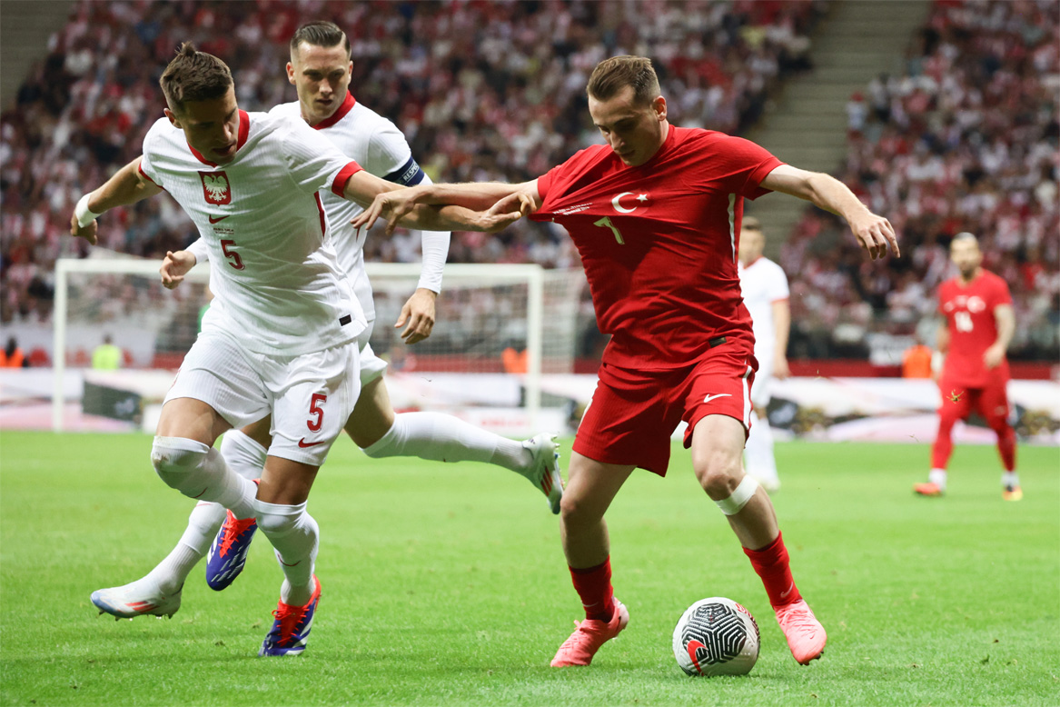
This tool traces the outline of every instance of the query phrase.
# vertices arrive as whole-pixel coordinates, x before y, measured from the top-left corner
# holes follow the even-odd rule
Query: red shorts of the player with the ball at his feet
[[[758,361],[749,341],[727,337],[693,364],[665,371],[636,371],[604,364],[585,408],[573,450],[605,464],[634,464],[666,476],[670,436],[688,423],[725,414],[750,429],[750,387]]]

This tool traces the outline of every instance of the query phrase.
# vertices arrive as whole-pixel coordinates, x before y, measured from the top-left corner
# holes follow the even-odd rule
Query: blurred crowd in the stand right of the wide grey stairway
[[[808,210],[780,261],[792,278],[793,353],[863,357],[873,331],[934,343],[949,242],[970,231],[984,267],[1012,291],[1010,357],[1057,359],[1058,25],[1050,0],[936,2],[904,73],[851,96],[837,174],[887,215],[903,258],[873,267],[836,218]]]

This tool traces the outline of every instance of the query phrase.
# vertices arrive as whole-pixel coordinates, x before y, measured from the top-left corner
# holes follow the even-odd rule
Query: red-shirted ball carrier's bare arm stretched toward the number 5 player
[[[387,234],[390,234],[393,232],[394,227],[398,226],[399,223],[404,225],[403,218],[405,218],[407,214],[411,213],[413,209],[441,205],[450,205],[449,207],[444,208],[443,211],[455,207],[461,207],[464,210],[484,210],[484,213],[490,214],[493,217],[507,218],[511,217],[515,211],[500,211],[496,207],[500,204],[506,206],[512,205],[511,201],[505,201],[505,199],[518,193],[532,191],[533,194],[536,194],[536,180],[524,182],[522,184],[508,184],[504,182],[491,181],[462,184],[420,184],[409,189],[388,189],[377,193],[372,200],[372,204],[369,205],[356,218],[354,218],[352,223],[356,228],[360,228],[361,226],[365,228],[371,228],[379,216],[385,216],[387,219],[386,231]],[[537,206],[540,206],[540,204]],[[518,210],[517,207],[516,210]],[[520,210],[520,213],[525,214],[527,211]],[[506,223],[501,228],[458,228],[455,230],[499,231],[515,220],[518,219],[513,218]]]

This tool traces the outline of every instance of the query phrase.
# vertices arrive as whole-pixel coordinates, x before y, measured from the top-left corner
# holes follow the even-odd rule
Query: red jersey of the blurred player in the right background
[[[997,340],[994,310],[1011,304],[1008,284],[993,272],[979,270],[969,284],[959,278],[947,280],[938,287],[938,311],[950,329],[950,350],[946,356],[942,377],[969,388],[984,388],[993,376],[1008,379],[1008,361],[988,370],[983,353]]]

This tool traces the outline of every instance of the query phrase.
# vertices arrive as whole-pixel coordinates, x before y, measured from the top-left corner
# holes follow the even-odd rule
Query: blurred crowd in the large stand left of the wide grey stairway
[[[0,320],[47,320],[64,237],[86,184],[140,152],[161,116],[158,75],[181,40],[224,58],[247,110],[295,100],[283,77],[299,23],[326,17],[352,42],[354,95],[404,131],[436,180],[525,180],[598,141],[588,72],[612,53],[650,54],[682,125],[739,131],[775,83],[807,68],[819,0],[657,2],[81,2],[3,114]],[[116,227],[117,226],[117,227]],[[101,245],[161,257],[194,238],[169,199],[107,216]],[[416,261],[408,235],[369,238],[369,260]],[[576,266],[568,238],[520,223],[459,233],[449,262]],[[101,286],[102,283],[101,283]],[[104,293],[99,293],[102,296]]]

